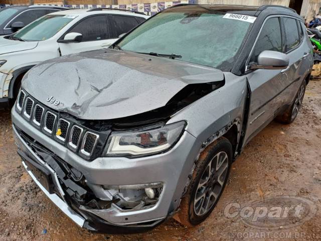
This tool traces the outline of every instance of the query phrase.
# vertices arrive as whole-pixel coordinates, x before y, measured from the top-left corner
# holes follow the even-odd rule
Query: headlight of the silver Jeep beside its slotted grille
[[[132,132],[113,132],[107,142],[106,156],[138,156],[164,152],[181,137],[185,122]]]

